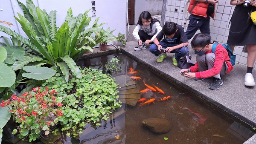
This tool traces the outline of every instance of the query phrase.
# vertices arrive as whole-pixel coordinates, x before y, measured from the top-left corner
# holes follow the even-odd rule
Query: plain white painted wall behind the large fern
[[[56,23],[57,27],[60,27],[64,23],[67,15],[67,10],[71,7],[73,9],[73,16],[77,16],[80,13],[84,13],[87,9],[91,9],[92,0],[33,0],[36,6],[40,9],[45,9],[47,13],[51,10],[56,10]],[[96,17],[101,17],[98,23],[107,23],[103,25],[104,28],[110,27],[110,29],[116,29],[113,34],[121,32],[126,35],[126,0],[94,0],[96,3]],[[26,5],[26,0],[20,0]],[[19,23],[14,18],[17,16],[17,12],[23,14],[16,0],[1,0],[0,9],[0,20],[8,21],[15,26],[11,26],[12,30],[25,36]],[[91,12],[88,13],[91,17]],[[96,17],[92,17],[92,25]],[[4,25],[3,23],[0,23]],[[3,32],[0,32],[0,36],[7,36]]]

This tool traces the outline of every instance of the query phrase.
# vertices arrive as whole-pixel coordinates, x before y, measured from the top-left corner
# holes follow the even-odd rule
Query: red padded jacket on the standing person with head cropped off
[[[196,2],[197,2],[197,4],[194,7],[194,4]],[[191,0],[190,3],[189,3],[188,11],[189,11],[190,14],[198,15],[198,16],[201,16],[201,17],[207,17],[206,12],[207,12],[208,5],[209,5],[209,3],[204,3],[204,2],[198,2],[198,1],[195,1],[195,0]],[[194,9],[192,9],[193,7],[194,7]],[[215,9],[215,4],[213,4],[213,7]],[[191,12],[191,10],[192,10],[192,12]],[[212,19],[214,19],[214,15],[215,15],[215,12],[210,15],[212,17]]]

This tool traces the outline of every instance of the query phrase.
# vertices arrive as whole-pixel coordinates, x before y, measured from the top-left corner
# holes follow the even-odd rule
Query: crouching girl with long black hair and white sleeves
[[[137,26],[132,33],[139,44],[134,50],[146,49],[146,46],[153,43],[154,38],[161,30],[159,20],[152,18],[149,12],[141,12]]]

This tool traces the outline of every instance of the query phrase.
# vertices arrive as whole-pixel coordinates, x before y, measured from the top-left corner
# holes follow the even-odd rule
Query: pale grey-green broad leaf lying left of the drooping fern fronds
[[[35,80],[46,80],[57,72],[54,69],[41,66],[23,66],[23,70],[26,71],[22,74],[23,77]]]

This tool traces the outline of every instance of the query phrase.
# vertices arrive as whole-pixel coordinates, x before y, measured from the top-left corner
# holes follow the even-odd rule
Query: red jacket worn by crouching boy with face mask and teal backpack
[[[212,50],[205,54],[210,52],[212,52]],[[230,62],[230,58],[228,57],[227,50],[221,44],[218,44],[215,49],[215,61],[212,69],[198,72],[198,63],[195,63],[195,66],[191,66],[190,69],[191,72],[195,72],[195,78],[209,78],[221,72],[224,61],[227,63],[228,74],[233,69],[233,66]]]

